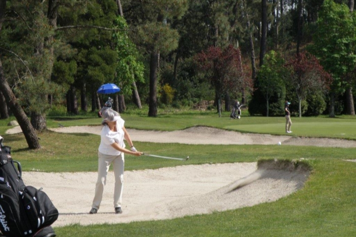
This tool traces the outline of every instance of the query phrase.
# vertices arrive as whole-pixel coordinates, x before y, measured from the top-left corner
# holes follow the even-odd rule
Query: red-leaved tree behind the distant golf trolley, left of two
[[[237,92],[252,88],[248,70],[243,67],[239,49],[229,45],[225,49],[211,46],[195,57],[195,62],[210,81],[218,98],[218,113],[221,117],[221,97],[227,91]]]

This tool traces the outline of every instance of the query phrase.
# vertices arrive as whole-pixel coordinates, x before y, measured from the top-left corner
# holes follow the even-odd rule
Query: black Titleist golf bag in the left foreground
[[[47,194],[26,186],[21,164],[0,148],[0,231],[4,237],[55,237],[58,210]],[[0,235],[1,236],[1,235]]]

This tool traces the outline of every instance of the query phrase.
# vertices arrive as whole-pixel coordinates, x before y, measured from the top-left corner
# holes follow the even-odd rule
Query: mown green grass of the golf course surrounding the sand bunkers
[[[228,114],[169,113],[148,118],[126,115],[126,127],[176,130],[194,125],[214,126],[247,132],[284,134],[283,117],[243,116],[230,120]],[[9,119],[11,120],[11,119]],[[49,118],[48,126],[97,125],[100,118]],[[292,118],[293,136],[342,137],[355,139],[355,118]],[[12,156],[25,171],[81,172],[97,170],[96,150],[100,137],[92,134],[38,134],[42,148],[29,150],[23,134],[5,135],[0,120],[0,134]],[[281,130],[281,131],[280,131]],[[345,132],[344,132],[345,131]],[[345,135],[342,135],[345,133]],[[71,225],[56,227],[59,237],[354,237],[356,236],[356,148],[318,148],[263,145],[183,145],[135,142],[136,148],[159,155],[186,157],[188,161],[166,160],[148,156],[125,157],[126,170],[156,169],[177,165],[256,162],[261,159],[305,158],[312,173],[305,187],[276,202],[254,207],[187,216],[173,220],[143,221],[113,225]],[[26,182],[26,180],[25,180]]]

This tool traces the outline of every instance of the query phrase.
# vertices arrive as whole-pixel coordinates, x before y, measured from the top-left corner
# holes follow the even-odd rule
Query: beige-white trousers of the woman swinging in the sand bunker
[[[125,164],[123,152],[121,152],[120,155],[106,155],[98,152],[98,157],[98,179],[96,181],[95,195],[91,207],[95,209],[99,209],[100,207],[104,186],[106,184],[106,177],[111,164],[113,164],[115,176],[114,207],[121,207],[123,170]]]

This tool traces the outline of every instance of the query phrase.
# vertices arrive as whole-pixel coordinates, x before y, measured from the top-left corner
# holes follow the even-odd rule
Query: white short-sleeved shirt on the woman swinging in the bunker
[[[121,148],[125,148],[125,143],[123,142],[124,139],[124,131],[122,130],[125,121],[122,118],[119,118],[116,121],[116,129],[117,132],[113,132],[110,130],[109,126],[104,125],[101,129],[101,141],[99,145],[99,152],[106,154],[106,155],[119,155],[121,152],[111,145],[113,143],[119,144]]]

